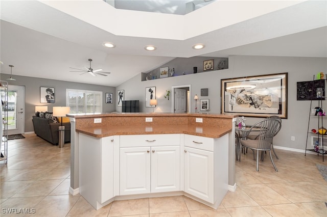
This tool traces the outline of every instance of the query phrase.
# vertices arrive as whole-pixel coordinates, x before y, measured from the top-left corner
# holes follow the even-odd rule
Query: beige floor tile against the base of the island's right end
[[[225,208],[258,206],[258,203],[250,198],[240,187],[237,187],[235,192],[227,192],[221,204]]]

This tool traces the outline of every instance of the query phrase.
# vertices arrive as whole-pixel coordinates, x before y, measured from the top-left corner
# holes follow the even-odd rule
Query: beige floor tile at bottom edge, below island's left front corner
[[[79,197],[78,201],[76,202],[74,207],[71,209],[71,211],[68,212],[66,217],[108,216],[109,210],[111,208],[111,204],[112,203],[108,204],[105,207],[102,207],[101,209],[96,210],[83,197]]]

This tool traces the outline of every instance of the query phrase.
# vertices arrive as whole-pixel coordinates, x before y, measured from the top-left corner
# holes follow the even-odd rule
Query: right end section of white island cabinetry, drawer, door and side
[[[184,192],[219,204],[228,191],[228,135],[184,135]]]

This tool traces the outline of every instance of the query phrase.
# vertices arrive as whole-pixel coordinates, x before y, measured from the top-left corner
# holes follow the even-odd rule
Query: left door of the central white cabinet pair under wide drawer
[[[121,148],[120,195],[150,193],[150,147]]]

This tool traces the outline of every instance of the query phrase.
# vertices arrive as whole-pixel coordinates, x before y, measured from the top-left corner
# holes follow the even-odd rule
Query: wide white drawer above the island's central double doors
[[[180,145],[180,134],[121,135],[121,147]]]

